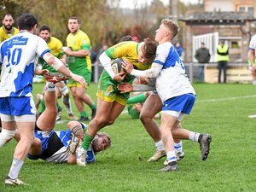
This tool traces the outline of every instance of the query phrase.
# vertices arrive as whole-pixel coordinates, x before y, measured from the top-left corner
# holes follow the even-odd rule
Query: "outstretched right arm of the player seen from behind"
[[[49,52],[43,55],[44,61],[46,61],[50,67],[53,67],[56,71],[63,73],[68,78],[73,79],[74,81],[79,82],[82,84],[83,88],[85,87],[85,80],[83,77],[76,75],[69,71],[69,69],[54,55],[50,54]]]

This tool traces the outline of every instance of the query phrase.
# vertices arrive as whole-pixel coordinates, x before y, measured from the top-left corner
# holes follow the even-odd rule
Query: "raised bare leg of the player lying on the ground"
[[[55,126],[57,115],[55,84],[46,84],[47,89],[44,93],[45,110],[37,120],[38,128],[43,131],[51,131]]]

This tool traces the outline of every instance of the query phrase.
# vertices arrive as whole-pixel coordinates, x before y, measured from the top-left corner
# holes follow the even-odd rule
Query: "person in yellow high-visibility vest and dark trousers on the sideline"
[[[224,84],[227,82],[227,69],[228,61],[230,61],[229,56],[229,46],[224,44],[224,40],[220,41],[217,47],[217,62],[218,62],[218,84],[221,83],[221,71],[224,73]]]

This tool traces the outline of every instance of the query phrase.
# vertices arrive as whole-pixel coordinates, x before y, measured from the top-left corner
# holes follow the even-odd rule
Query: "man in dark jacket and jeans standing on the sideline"
[[[201,66],[198,66],[197,70],[197,80],[198,82],[203,81],[205,64],[210,61],[211,55],[209,49],[206,48],[206,44],[201,42],[201,48],[197,49],[195,52],[195,59],[198,61]]]

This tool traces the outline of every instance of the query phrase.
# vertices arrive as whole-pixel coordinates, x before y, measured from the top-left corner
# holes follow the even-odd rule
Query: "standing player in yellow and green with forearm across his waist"
[[[70,71],[83,76],[86,81],[85,89],[81,87],[81,84],[74,82],[73,79],[68,80],[67,86],[70,87],[75,105],[79,110],[81,116],[79,120],[86,121],[89,118],[84,109],[84,102],[91,108],[91,119],[96,115],[96,103],[86,93],[91,79],[90,38],[79,29],[80,21],[78,17],[70,17],[67,27],[70,33],[67,35],[66,55],[63,58],[67,58]]]

